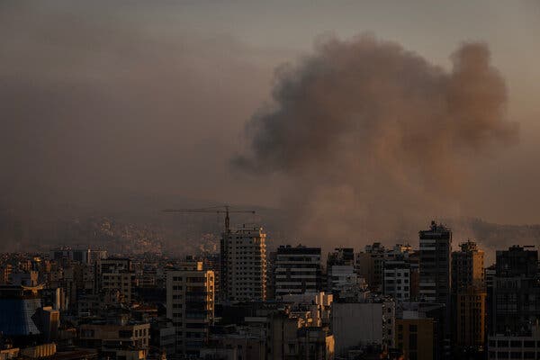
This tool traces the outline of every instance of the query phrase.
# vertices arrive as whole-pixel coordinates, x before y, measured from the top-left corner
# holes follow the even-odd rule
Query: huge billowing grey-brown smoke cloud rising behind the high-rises
[[[485,44],[451,60],[447,71],[371,35],[320,40],[277,70],[274,103],[247,123],[250,151],[233,162],[284,175],[293,228],[320,243],[410,237],[459,215],[470,166],[518,126]]]

